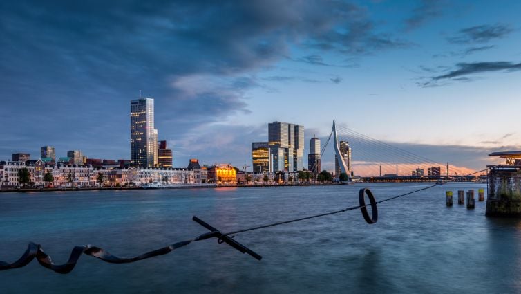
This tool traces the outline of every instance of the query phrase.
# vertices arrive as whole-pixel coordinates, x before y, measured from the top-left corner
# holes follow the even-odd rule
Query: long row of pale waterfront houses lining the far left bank
[[[29,185],[35,187],[141,187],[153,182],[164,185],[255,185],[295,182],[298,176],[297,172],[246,173],[231,165],[200,166],[196,159],[191,159],[187,168],[100,168],[93,165],[48,165],[42,160],[28,160],[0,162],[0,187],[20,187],[19,170],[23,168],[29,172]],[[46,181],[46,174],[51,174],[53,181]]]

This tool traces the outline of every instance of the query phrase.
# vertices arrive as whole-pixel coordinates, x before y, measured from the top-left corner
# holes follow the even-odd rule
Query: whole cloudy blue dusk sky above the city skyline
[[[251,165],[268,122],[325,139],[335,119],[482,169],[491,151],[521,149],[519,11],[520,1],[1,1],[0,160],[39,158],[44,145],[129,158],[141,90],[176,167]]]

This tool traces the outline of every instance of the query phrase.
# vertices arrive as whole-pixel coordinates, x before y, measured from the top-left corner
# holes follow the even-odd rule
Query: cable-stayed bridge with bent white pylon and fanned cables
[[[334,120],[332,131],[321,148],[321,158],[330,149],[334,152],[336,173],[347,174],[349,181],[468,181],[474,178],[466,176],[475,172],[473,169],[437,162],[337,125]]]

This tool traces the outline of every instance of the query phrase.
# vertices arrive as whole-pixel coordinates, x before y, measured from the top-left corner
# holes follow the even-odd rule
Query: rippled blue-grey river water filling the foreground
[[[198,190],[0,194],[0,260],[29,241],[55,263],[75,245],[133,256],[206,232],[357,205],[370,187],[385,199],[423,183]],[[0,293],[521,293],[521,221],[484,216],[484,185],[448,183],[379,205],[379,221],[359,210],[244,232],[236,239],[257,261],[215,239],[133,264],[86,255],[60,275],[36,261],[0,272]],[[445,206],[445,191],[476,190],[475,210]]]

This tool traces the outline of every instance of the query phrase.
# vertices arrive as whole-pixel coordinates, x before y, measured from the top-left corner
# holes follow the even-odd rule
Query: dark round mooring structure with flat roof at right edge
[[[521,217],[521,151],[489,154],[506,159],[506,165],[488,166],[487,217]]]

